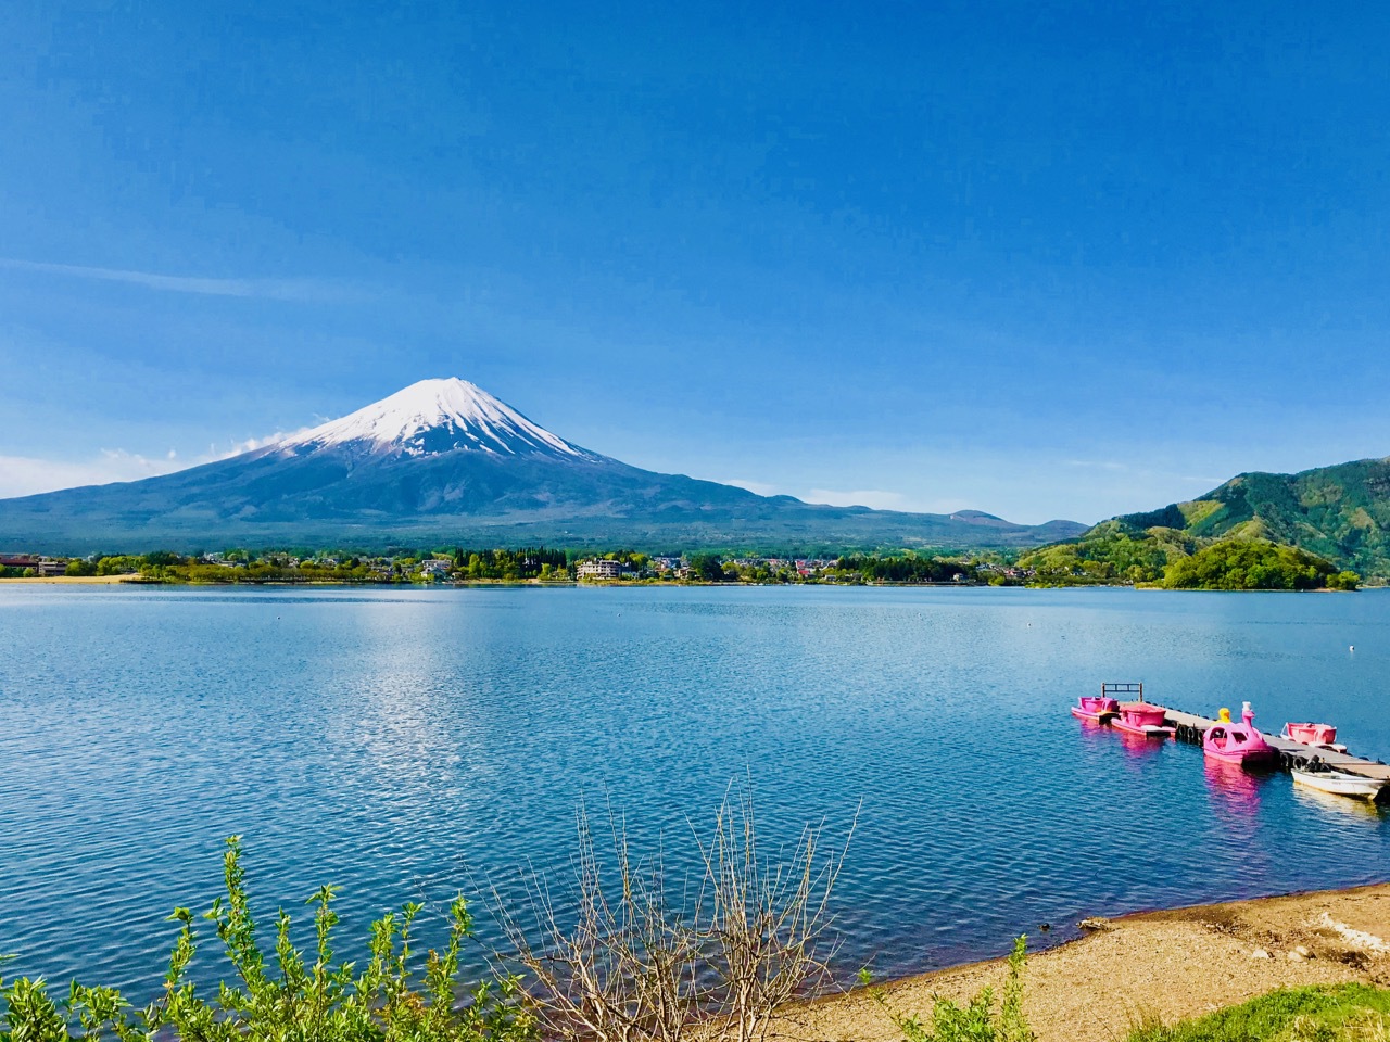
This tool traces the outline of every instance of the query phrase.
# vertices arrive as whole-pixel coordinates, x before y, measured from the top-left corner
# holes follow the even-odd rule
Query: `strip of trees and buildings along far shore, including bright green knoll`
[[[1086,553],[1104,546],[1105,553]],[[1361,577],[1307,550],[1227,539],[1163,559],[1126,539],[1006,550],[880,550],[817,556],[660,554],[546,546],[500,549],[254,550],[86,557],[0,554],[0,579],[143,584],[651,584],[1141,586],[1212,590],[1354,590]],[[1379,579],[1373,579],[1376,585]]]

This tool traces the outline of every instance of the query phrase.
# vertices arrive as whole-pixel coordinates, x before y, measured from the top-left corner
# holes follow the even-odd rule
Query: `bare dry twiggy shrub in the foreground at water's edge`
[[[520,902],[493,888],[543,1034],[595,1042],[764,1039],[778,1007],[828,982],[830,898],[853,827],[830,850],[823,828],[805,828],[790,854],[767,856],[749,789],[731,786],[713,828],[692,829],[696,868],[673,885],[660,852],[634,856],[612,807],[612,857],[600,856],[581,806],[564,900],[535,871]]]

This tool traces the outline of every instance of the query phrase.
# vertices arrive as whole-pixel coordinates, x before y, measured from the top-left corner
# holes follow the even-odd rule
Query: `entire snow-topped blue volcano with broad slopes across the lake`
[[[253,452],[0,500],[0,543],[50,553],[549,542],[699,547],[1037,546],[1084,531],[759,496],[582,449],[461,379],[425,379]]]

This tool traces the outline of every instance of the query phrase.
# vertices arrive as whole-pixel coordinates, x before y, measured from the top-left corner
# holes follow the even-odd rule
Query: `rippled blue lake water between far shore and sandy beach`
[[[0,638],[6,977],[150,992],[229,834],[267,923],[335,882],[361,935],[566,866],[581,795],[680,859],[738,778],[769,842],[858,809],[842,968],[1390,878],[1384,810],[1066,711],[1134,679],[1390,757],[1386,593],[4,586]]]

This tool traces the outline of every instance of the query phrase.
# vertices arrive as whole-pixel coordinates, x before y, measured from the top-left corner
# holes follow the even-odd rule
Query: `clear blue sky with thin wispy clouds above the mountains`
[[[442,375],[653,470],[1017,521],[1384,456],[1387,29],[6,4],[0,495]]]

